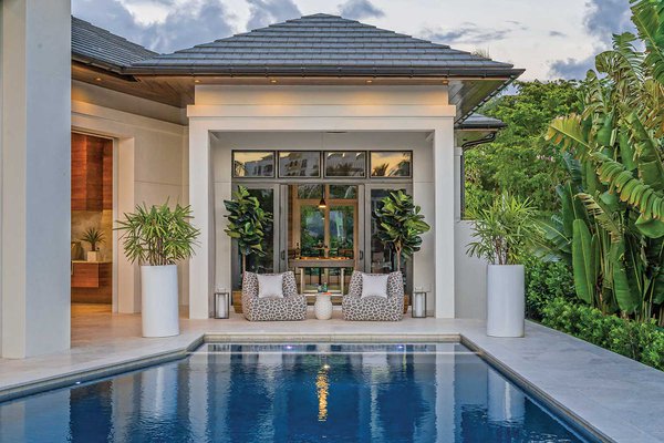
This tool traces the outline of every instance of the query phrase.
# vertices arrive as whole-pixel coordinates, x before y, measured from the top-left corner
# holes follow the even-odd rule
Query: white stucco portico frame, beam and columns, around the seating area
[[[430,173],[419,173],[415,177],[414,194],[434,227],[433,241],[426,241],[422,253],[422,257],[433,259],[434,265],[433,268],[421,266],[419,270],[416,267],[415,279],[424,279],[418,272],[429,274],[428,279],[434,280],[429,285],[432,298],[436,300],[435,315],[454,317],[454,200],[458,190],[454,181],[455,115],[456,110],[447,104],[447,89],[443,85],[196,86],[196,104],[188,107],[189,193],[205,231],[201,249],[207,247],[207,251],[201,250],[190,264],[191,317],[207,318],[212,288],[230,287],[230,241],[226,236],[219,238],[217,235],[217,224],[224,223],[219,219],[224,214],[219,204],[230,196],[230,159],[226,159],[227,166],[221,169],[228,175],[214,176],[212,146],[228,144],[224,141],[228,133],[320,134],[329,131],[347,132],[347,141],[362,133],[382,132],[378,138],[366,140],[366,143],[384,144],[390,143],[391,136],[408,132],[430,134],[427,141],[429,156],[415,157],[416,162],[417,157],[428,158]],[[210,133],[215,133],[218,141],[214,141]],[[247,143],[247,140],[242,142]],[[292,138],[282,142],[293,148]],[[308,148],[319,148],[311,143],[307,144]],[[321,143],[319,135],[314,145],[321,146]],[[221,151],[228,153],[228,150]],[[216,249],[226,249],[228,254],[215,257]],[[218,262],[215,264],[216,258]],[[217,269],[222,271],[217,272]]]

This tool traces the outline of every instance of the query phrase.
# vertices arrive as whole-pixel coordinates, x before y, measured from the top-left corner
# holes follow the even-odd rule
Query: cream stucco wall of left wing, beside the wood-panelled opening
[[[98,90],[100,95],[95,93]],[[108,104],[108,92],[79,82],[73,83],[72,130],[116,141],[116,214],[134,210],[135,205],[158,205],[169,199],[188,204],[187,127],[160,119],[176,117],[179,110],[126,94],[113,93],[137,106],[141,115],[98,105]],[[118,96],[122,95],[122,96]],[[98,100],[97,100],[98,99]],[[147,103],[146,103],[147,102]],[[146,116],[154,115],[154,117]],[[115,239],[117,254],[117,310],[139,312],[141,281],[138,266],[132,266]],[[178,266],[180,303],[188,303],[188,266]]]

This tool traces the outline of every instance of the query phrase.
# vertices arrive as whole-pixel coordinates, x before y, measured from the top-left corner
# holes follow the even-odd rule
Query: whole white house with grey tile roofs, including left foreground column
[[[304,251],[392,268],[372,210],[390,190],[411,193],[433,229],[407,288],[428,291],[430,316],[483,317],[461,157],[502,127],[475,111],[522,70],[328,14],[157,54],[69,8],[2,6],[2,356],[69,347],[71,133],[112,141],[114,219],[136,204],[191,205],[201,235],[179,281],[193,319],[238,286],[224,200],[239,185],[273,213],[255,264],[266,271]],[[113,310],[138,312],[137,266],[116,234],[111,245]],[[304,278],[302,290],[341,282],[334,270]]]

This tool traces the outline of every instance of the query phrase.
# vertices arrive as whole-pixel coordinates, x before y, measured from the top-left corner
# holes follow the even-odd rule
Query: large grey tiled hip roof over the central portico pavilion
[[[319,13],[138,60],[127,72],[516,76],[522,70],[445,44]]]

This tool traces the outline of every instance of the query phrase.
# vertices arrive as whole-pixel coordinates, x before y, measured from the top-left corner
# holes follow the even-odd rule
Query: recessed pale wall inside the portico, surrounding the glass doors
[[[425,132],[224,132],[210,140],[215,206],[215,282],[230,287],[230,240],[224,233],[226,209],[224,199],[231,192],[231,150],[291,151],[413,151],[413,197],[422,214],[433,225],[435,196],[433,190],[433,152],[429,134]],[[349,183],[353,181],[350,178]],[[378,181],[376,181],[378,182]],[[390,183],[390,179],[384,179]],[[415,255],[413,285],[429,291],[429,315],[434,315],[434,247],[433,231],[423,236],[423,246]]]

